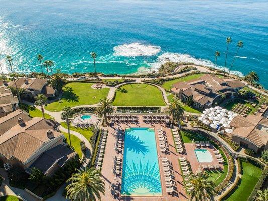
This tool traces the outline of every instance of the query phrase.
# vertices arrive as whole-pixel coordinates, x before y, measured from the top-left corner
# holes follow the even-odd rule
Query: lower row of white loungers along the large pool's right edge
[[[172,194],[174,192],[174,182],[172,180],[173,172],[170,168],[171,162],[167,157],[162,158],[162,165],[164,170],[166,192]]]

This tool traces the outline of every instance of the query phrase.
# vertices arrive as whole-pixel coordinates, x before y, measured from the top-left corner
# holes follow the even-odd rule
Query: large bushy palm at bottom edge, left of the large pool
[[[69,199],[73,201],[96,201],[100,200],[100,193],[105,194],[105,182],[99,170],[95,168],[77,170],[72,177],[67,180],[71,182],[66,187]]]

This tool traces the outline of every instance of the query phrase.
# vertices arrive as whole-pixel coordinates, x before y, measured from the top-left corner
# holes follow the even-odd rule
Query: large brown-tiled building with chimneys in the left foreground
[[[37,167],[50,176],[74,158],[76,152],[65,147],[65,137],[56,128],[53,121],[32,119],[24,110],[0,118],[0,159],[5,169]]]

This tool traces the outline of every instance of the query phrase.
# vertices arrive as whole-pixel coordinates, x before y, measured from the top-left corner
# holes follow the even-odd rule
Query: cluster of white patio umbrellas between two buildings
[[[213,129],[219,130],[221,127],[226,133],[232,133],[233,130],[231,129],[230,122],[235,116],[237,116],[236,113],[216,106],[215,108],[205,109],[198,120]]]

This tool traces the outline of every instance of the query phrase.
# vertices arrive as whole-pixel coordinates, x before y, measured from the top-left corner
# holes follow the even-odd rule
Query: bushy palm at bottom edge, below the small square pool
[[[213,181],[208,181],[209,175],[206,172],[198,172],[190,174],[187,180],[184,180],[184,186],[187,195],[190,200],[194,201],[206,201],[212,200],[211,198],[215,195],[216,184]]]

